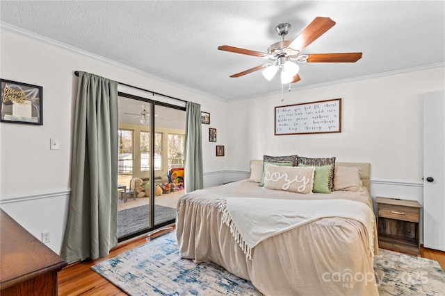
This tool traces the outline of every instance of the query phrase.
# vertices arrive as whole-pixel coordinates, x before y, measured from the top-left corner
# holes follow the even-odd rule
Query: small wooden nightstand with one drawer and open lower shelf
[[[421,204],[416,200],[375,198],[378,205],[378,244],[383,249],[420,254]]]

